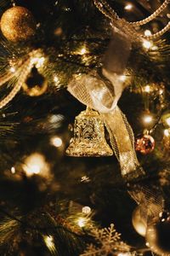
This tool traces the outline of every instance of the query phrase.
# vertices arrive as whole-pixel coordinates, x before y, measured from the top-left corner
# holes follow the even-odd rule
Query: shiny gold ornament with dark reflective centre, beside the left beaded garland
[[[48,88],[48,81],[33,67],[22,88],[29,96],[41,96]]]

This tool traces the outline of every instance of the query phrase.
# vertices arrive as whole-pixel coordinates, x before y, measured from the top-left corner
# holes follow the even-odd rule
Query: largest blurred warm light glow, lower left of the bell
[[[42,174],[42,176],[44,176],[44,174],[48,172],[48,169],[48,164],[45,161],[44,156],[38,153],[28,156],[23,165],[23,170],[28,177],[34,174]]]

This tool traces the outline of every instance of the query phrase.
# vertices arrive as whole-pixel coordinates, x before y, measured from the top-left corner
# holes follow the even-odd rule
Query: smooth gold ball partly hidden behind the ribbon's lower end
[[[146,219],[142,216],[140,206],[136,207],[133,211],[132,223],[134,230],[136,230],[140,236],[145,236],[147,224]]]

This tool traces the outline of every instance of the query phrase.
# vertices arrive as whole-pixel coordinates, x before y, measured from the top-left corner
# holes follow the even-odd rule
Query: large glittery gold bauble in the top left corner
[[[14,6],[3,13],[1,31],[9,41],[25,41],[35,34],[36,22],[31,11],[24,7]]]

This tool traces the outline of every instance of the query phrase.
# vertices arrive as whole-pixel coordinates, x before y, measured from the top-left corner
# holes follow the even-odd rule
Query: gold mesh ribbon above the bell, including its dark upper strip
[[[127,180],[144,173],[134,151],[133,131],[125,115],[117,107],[123,90],[120,74],[126,67],[130,49],[131,43],[127,36],[114,28],[102,70],[111,83],[106,83],[95,73],[89,73],[72,79],[67,88],[79,102],[101,113],[110,134],[111,146],[120,162],[122,176]]]

